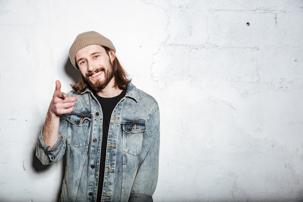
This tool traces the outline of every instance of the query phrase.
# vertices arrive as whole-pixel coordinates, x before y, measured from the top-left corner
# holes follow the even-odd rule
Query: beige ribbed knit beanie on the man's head
[[[100,33],[96,31],[87,31],[80,33],[77,35],[74,43],[69,49],[69,59],[76,69],[79,69],[78,65],[76,64],[76,53],[82,48],[88,47],[90,45],[101,45],[108,47],[116,53],[116,48],[114,47],[113,43]]]

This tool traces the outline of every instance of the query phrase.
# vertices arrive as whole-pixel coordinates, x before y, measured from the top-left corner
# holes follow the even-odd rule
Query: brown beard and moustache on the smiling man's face
[[[102,80],[97,80],[95,82],[92,82],[89,77],[93,74],[96,74],[100,71],[104,72],[104,79]],[[85,79],[85,81],[87,82],[87,84],[89,85],[89,87],[94,90],[95,92],[101,91],[103,90],[108,83],[110,82],[110,80],[114,77],[114,68],[113,65],[111,63],[111,61],[109,60],[108,62],[108,68],[105,69],[104,67],[100,67],[95,69],[93,72],[88,72],[85,74],[85,77],[83,77]]]

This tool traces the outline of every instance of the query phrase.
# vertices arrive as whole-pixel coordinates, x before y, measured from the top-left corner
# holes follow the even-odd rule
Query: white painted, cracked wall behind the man
[[[0,0],[0,202],[58,200],[36,140],[92,30],[159,102],[155,202],[303,201],[302,22],[303,0]]]

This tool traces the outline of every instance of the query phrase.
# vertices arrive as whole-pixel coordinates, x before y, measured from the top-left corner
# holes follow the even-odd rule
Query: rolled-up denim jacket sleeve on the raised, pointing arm
[[[60,131],[61,128],[64,127],[62,124],[65,116],[62,115],[60,117]],[[43,165],[52,164],[58,162],[63,155],[65,154],[66,148],[66,135],[59,135],[58,141],[55,143],[53,147],[47,146],[43,139],[43,129],[40,131],[38,135],[38,142],[36,146],[36,156],[41,161]]]

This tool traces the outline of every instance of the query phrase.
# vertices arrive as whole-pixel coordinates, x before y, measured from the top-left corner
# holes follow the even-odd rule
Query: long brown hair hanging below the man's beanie
[[[104,47],[104,49],[106,50],[106,54],[109,56],[110,48]],[[118,87],[121,90],[125,89],[127,87],[127,84],[129,84],[132,81],[132,79],[128,78],[127,73],[121,66],[117,57],[115,57],[115,59],[113,60],[112,66],[113,66],[114,78],[115,78],[114,87]],[[82,93],[85,91],[85,89],[89,87],[89,85],[85,80],[85,78],[83,77],[83,75],[81,74],[79,78],[79,82],[77,82],[76,84],[71,84],[71,87],[76,93]]]

